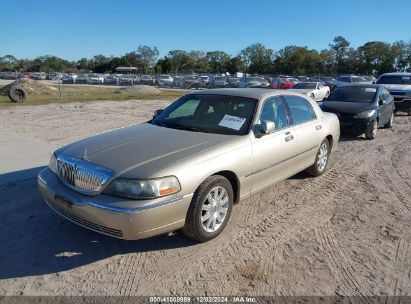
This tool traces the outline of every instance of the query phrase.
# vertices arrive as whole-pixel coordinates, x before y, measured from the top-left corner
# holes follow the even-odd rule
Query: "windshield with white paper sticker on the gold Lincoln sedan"
[[[150,123],[166,128],[227,135],[250,129],[257,99],[214,94],[183,96]]]

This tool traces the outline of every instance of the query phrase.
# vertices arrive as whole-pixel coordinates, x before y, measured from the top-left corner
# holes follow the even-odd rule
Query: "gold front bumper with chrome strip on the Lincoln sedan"
[[[137,201],[100,194],[87,196],[64,186],[49,169],[38,175],[40,193],[51,209],[90,230],[125,240],[143,239],[184,226],[193,194]]]

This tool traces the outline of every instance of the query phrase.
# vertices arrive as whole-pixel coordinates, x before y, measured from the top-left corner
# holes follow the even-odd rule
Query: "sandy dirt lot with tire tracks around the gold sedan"
[[[60,146],[142,122],[166,104],[0,109],[0,139]],[[38,165],[0,175],[0,297],[411,295],[410,127],[410,117],[398,116],[376,140],[343,137],[326,174],[299,174],[241,202],[206,244],[178,233],[134,242],[101,236],[42,202],[27,178]]]

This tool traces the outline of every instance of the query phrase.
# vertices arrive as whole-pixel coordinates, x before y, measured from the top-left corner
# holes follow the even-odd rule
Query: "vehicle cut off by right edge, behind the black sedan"
[[[411,115],[411,73],[386,73],[376,83],[384,85],[394,97],[395,112]]]

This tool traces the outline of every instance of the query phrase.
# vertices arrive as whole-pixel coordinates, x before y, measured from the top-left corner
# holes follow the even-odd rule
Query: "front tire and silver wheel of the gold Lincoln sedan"
[[[220,200],[224,202],[223,204],[213,205],[214,202],[209,201],[208,197],[218,198],[220,195],[223,195],[223,199]],[[194,193],[182,229],[183,233],[199,242],[207,242],[217,237],[224,230],[230,218],[233,199],[233,188],[225,177],[213,175],[207,178]],[[223,214],[224,210],[224,218],[218,222],[218,217]],[[203,217],[207,215],[209,217],[203,220]]]

